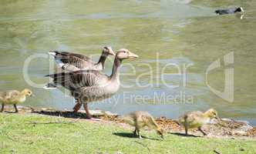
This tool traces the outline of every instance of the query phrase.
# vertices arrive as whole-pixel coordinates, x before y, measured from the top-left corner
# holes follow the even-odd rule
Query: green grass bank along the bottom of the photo
[[[57,122],[30,124],[30,122]],[[86,120],[70,120],[44,115],[0,113],[0,153],[256,153],[256,141],[207,139],[167,134],[160,139],[142,131],[150,139],[126,137],[131,130]],[[123,136],[122,136],[123,135]],[[244,149],[244,150],[241,150]]]

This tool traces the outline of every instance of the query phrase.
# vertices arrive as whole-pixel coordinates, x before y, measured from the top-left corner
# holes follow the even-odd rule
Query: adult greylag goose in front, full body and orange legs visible
[[[52,75],[46,75],[53,79],[48,85],[62,85],[69,89],[72,96],[76,99],[74,112],[77,112],[81,105],[86,110],[86,116],[91,119],[87,103],[107,99],[114,95],[120,88],[120,65],[123,59],[137,58],[128,49],[120,49],[116,53],[111,75],[101,74],[96,70],[79,70],[75,72],[62,72]]]

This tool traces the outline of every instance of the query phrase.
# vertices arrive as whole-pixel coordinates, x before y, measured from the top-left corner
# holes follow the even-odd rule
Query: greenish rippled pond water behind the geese
[[[239,15],[213,13],[216,8],[235,5],[246,11],[242,20]],[[91,108],[121,114],[139,109],[176,118],[181,112],[213,107],[222,117],[256,124],[255,6],[256,2],[238,0],[5,1],[0,6],[1,89],[29,86],[22,75],[29,55],[58,49],[96,55],[93,59],[97,60],[102,47],[111,45],[130,49],[140,59],[123,64],[122,83],[130,88],[91,103]],[[230,52],[234,52],[234,64],[227,67],[234,68],[234,102],[215,95],[205,81],[207,67],[220,59],[221,67],[209,74],[208,82],[224,91],[223,56]],[[50,62],[52,59],[32,60],[29,75],[33,82],[48,81],[43,75],[49,73]],[[106,62],[107,74],[112,62],[113,58]],[[160,71],[166,65],[162,79]],[[59,90],[33,91],[37,97],[26,105],[71,109],[74,104]]]

